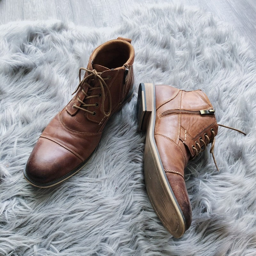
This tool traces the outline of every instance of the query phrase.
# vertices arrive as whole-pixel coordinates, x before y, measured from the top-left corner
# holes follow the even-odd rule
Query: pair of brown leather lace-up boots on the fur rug
[[[84,167],[110,116],[132,98],[133,61],[131,40],[122,37],[92,52],[87,68],[79,70],[76,95],[46,126],[28,158],[28,182],[49,188]],[[201,90],[140,84],[137,115],[139,128],[147,131],[144,173],[149,199],[167,230],[180,237],[192,218],[184,168],[209,143],[213,154],[218,132],[214,109]]]

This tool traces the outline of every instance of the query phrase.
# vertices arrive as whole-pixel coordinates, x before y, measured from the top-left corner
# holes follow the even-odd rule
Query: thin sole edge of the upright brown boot
[[[126,99],[124,100],[123,104],[117,109],[116,112],[120,111],[122,106],[126,103],[126,102],[130,102],[132,100],[132,97],[133,97],[133,89],[132,91],[129,93],[129,95],[126,97]],[[29,179],[29,177],[27,176],[27,172],[26,172],[26,165],[24,167],[24,170],[23,170],[23,175],[24,175],[24,178],[31,184],[33,185],[34,187],[37,187],[37,188],[51,188],[53,186],[56,186],[58,184],[60,184],[61,182],[69,179],[70,177],[72,177],[74,174],[76,174],[77,172],[79,172],[88,162],[89,160],[92,158],[92,156],[95,154],[96,150],[97,150],[98,146],[93,150],[92,154],[84,161],[82,162],[80,165],[78,165],[75,169],[73,169],[72,171],[68,172],[66,175],[62,176],[61,178],[57,179],[57,180],[54,180],[52,182],[48,182],[48,183],[38,183],[38,182],[35,182],[31,179]]]

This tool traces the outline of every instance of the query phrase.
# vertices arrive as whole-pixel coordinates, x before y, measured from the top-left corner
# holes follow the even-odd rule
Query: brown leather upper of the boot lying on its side
[[[184,168],[196,156],[195,147],[204,148],[201,140],[212,141],[218,132],[214,114],[200,114],[213,109],[201,90],[182,91],[168,85],[156,85],[155,141],[164,171],[186,220],[191,225],[192,211],[184,181]]]

